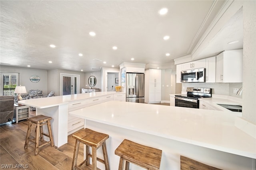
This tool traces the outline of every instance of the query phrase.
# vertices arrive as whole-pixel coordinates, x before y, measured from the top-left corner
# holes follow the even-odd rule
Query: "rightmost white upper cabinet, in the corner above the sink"
[[[223,51],[216,56],[216,82],[242,82],[243,50]]]

